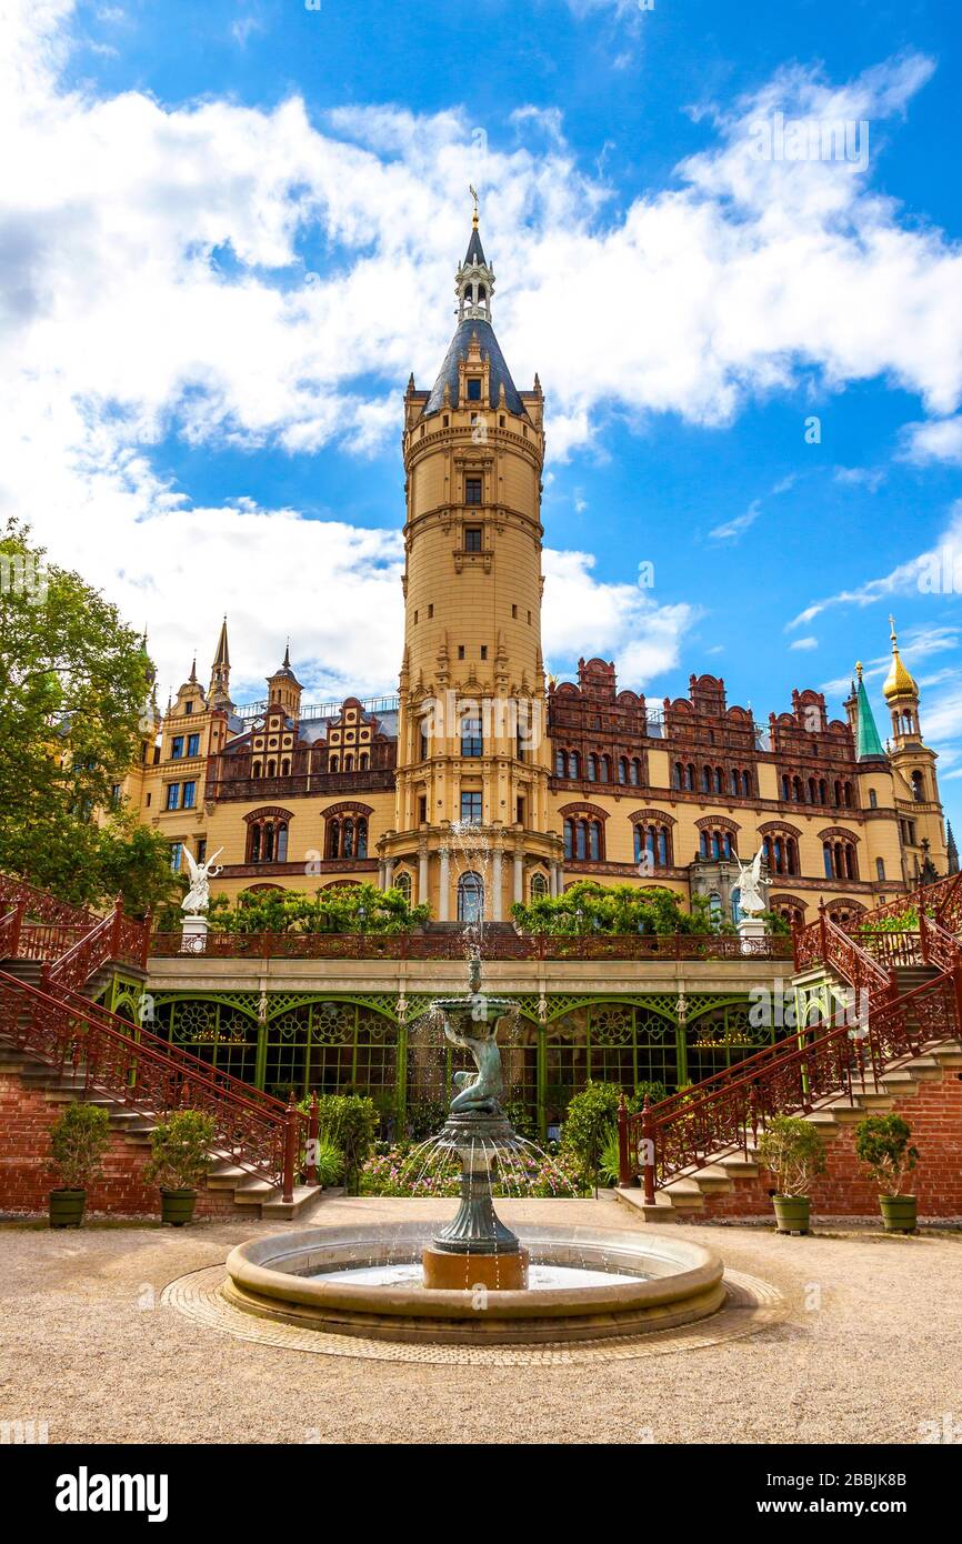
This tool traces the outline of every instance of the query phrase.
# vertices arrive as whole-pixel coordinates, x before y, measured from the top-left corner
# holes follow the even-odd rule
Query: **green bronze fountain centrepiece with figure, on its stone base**
[[[454,1075],[454,1098],[435,1146],[456,1152],[462,1166],[460,1206],[452,1221],[425,1246],[425,1286],[519,1289],[528,1285],[528,1251],[517,1234],[505,1227],[491,1200],[491,1180],[499,1155],[517,1152],[520,1143],[500,1106],[503,1076],[497,1027],[517,1011],[506,997],[488,997],[480,990],[480,953],[471,950],[468,996],[434,1002],[446,1039],[471,1053],[476,1073]]]

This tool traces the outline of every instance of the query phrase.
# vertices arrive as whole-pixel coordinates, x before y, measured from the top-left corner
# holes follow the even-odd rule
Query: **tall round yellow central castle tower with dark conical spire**
[[[489,848],[489,920],[533,880],[561,886],[540,652],[544,395],[537,377],[533,391],[514,386],[493,289],[476,207],[457,330],[432,391],[411,377],[405,397],[397,829],[380,845],[381,883],[408,872],[442,922],[473,905],[452,857],[462,823]]]

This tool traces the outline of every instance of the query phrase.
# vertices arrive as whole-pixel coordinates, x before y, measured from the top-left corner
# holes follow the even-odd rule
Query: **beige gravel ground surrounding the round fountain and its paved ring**
[[[358,1210],[360,1209],[360,1210]],[[611,1200],[503,1203],[508,1223],[625,1227]],[[320,1227],[435,1217],[326,1201]],[[673,1227],[774,1283],[783,1323],[746,1339],[578,1366],[434,1366],[233,1339],[161,1308],[174,1277],[269,1224],[0,1226],[0,1420],[51,1442],[905,1442],[962,1433],[962,1235]],[[652,1436],[647,1437],[650,1430]]]

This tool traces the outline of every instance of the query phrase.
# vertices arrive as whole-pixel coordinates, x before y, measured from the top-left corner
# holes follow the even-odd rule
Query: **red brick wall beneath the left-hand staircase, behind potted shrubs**
[[[29,1217],[46,1212],[46,1197],[59,1183],[49,1164],[49,1129],[65,1109],[26,1087],[15,1073],[0,1072],[0,1214]],[[150,1156],[147,1144],[111,1133],[103,1178],[86,1192],[86,1215],[159,1217],[161,1194],[141,1180]],[[232,1190],[199,1190],[196,1217],[238,1217],[252,1212],[235,1206]]]

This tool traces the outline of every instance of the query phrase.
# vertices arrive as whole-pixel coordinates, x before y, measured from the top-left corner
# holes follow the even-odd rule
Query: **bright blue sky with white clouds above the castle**
[[[0,508],[150,627],[165,687],[222,611],[235,695],[287,631],[310,696],[394,687],[400,397],[454,327],[474,181],[499,340],[548,395],[550,667],[601,653],[655,699],[710,670],[766,718],[795,686],[838,712],[863,659],[885,733],[894,611],[959,808],[954,8],[11,17]],[[851,124],[859,164],[760,153],[775,114]]]

